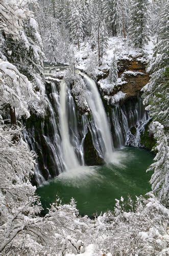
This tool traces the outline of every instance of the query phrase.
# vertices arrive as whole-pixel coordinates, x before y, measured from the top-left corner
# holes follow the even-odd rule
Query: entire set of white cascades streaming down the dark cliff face
[[[62,80],[60,85],[51,82],[47,89],[47,118],[26,122],[25,139],[38,155],[35,170],[37,185],[65,170],[89,172],[83,167],[86,156],[84,141],[88,131],[92,136],[91,144],[106,162],[113,162],[116,157],[114,148],[141,145],[140,133],[149,121],[142,100],[129,100],[122,105],[117,103],[107,117],[96,83],[83,73],[80,73],[80,77],[86,84],[85,95],[91,115],[80,114],[70,87]],[[131,132],[133,127],[134,134]]]

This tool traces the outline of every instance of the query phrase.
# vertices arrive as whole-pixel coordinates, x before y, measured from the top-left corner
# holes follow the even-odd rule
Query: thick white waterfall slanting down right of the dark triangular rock
[[[104,151],[103,157],[106,162],[111,162],[114,147],[108,118],[100,93],[93,79],[89,78],[83,73],[80,74],[86,81],[86,86],[88,89],[86,98],[93,116],[94,124],[96,126],[96,133],[99,133],[101,137],[100,143],[102,150]]]

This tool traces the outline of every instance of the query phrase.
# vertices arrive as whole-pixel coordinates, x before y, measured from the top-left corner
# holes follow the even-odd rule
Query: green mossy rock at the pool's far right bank
[[[153,134],[149,133],[149,125],[151,121],[149,121],[146,126],[144,132],[140,135],[140,142],[141,144],[147,149],[152,150],[153,147],[156,146],[156,140],[154,139]]]

